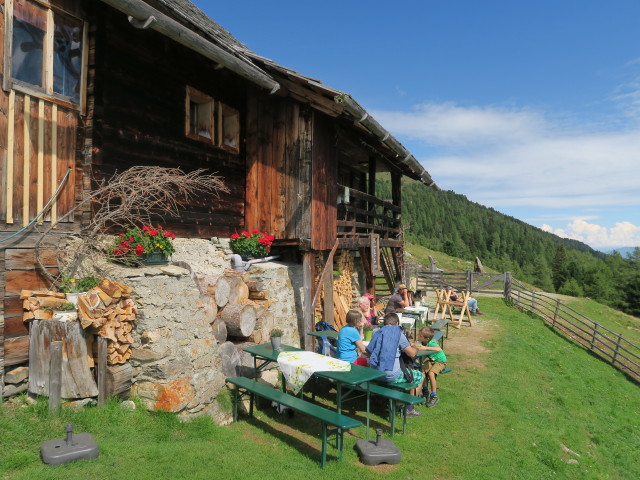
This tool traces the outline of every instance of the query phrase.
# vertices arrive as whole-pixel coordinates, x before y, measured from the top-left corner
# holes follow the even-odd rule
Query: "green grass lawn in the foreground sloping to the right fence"
[[[322,471],[319,425],[272,408],[219,427],[206,418],[180,423],[169,414],[125,411],[115,401],[49,417],[41,401],[0,406],[0,478],[640,478],[638,385],[499,298],[482,298],[482,310],[486,353],[448,355],[454,371],[439,382],[440,403],[420,407],[425,413],[408,420],[408,434],[394,437],[399,465],[361,465],[357,437],[346,435],[343,462],[330,448]],[[451,336],[478,331],[452,329]],[[386,421],[377,421],[386,431]],[[64,436],[67,423],[94,436],[100,457],[43,465],[40,444]],[[364,428],[353,433],[361,437]]]

